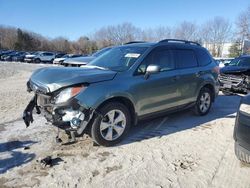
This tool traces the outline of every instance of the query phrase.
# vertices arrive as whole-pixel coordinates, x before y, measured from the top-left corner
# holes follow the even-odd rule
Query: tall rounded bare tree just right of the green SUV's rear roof
[[[204,45],[214,56],[222,55],[223,45],[231,37],[231,28],[231,23],[222,17],[215,17],[203,26],[201,33]]]

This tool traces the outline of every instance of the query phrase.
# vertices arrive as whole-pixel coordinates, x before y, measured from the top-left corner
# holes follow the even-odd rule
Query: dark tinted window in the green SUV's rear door
[[[198,62],[193,50],[174,50],[179,69],[197,67]]]

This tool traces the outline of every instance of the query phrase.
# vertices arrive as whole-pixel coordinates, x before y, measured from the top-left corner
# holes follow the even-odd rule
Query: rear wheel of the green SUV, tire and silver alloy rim
[[[207,87],[200,90],[199,96],[194,106],[194,112],[196,115],[206,115],[212,106],[212,92]]]

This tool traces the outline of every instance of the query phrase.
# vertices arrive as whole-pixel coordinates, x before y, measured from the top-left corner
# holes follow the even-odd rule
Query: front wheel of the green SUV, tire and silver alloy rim
[[[99,110],[91,127],[91,137],[102,146],[113,146],[124,138],[131,126],[127,107],[118,102],[108,103]]]

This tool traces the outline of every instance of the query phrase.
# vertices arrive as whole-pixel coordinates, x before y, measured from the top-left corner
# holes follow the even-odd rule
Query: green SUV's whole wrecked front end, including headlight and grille
[[[33,110],[43,114],[48,122],[66,132],[81,135],[90,122],[94,110],[81,104],[74,96],[85,89],[84,85],[76,85],[50,92],[48,88],[27,82],[27,90],[34,92],[23,112],[23,120],[28,127],[33,123]]]

